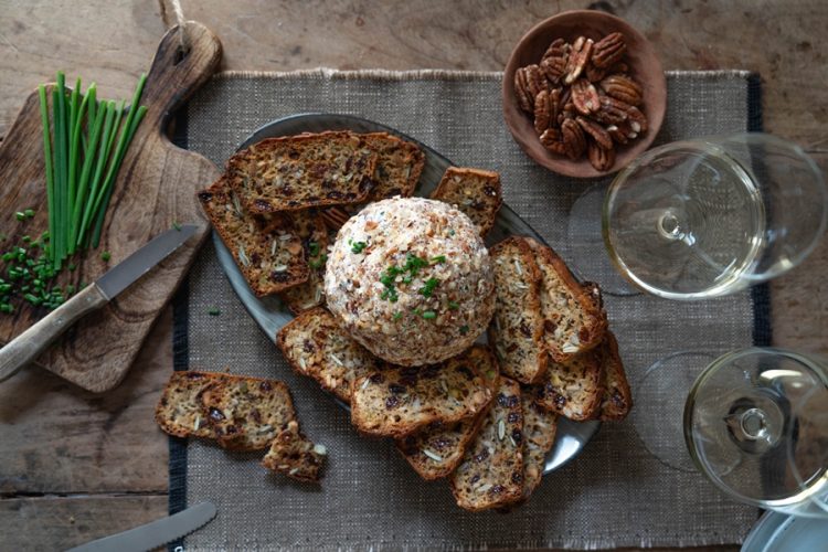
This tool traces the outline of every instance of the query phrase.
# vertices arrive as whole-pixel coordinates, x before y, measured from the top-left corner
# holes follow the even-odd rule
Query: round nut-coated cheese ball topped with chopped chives
[[[394,364],[454,357],[495,310],[489,252],[457,209],[423,198],[371,203],[340,229],[325,273],[328,308]]]

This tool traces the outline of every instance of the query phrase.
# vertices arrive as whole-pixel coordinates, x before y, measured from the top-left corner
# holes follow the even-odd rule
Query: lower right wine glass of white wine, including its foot
[[[662,463],[699,469],[742,502],[828,518],[826,359],[773,348],[712,361],[682,352],[654,364],[636,396],[634,426]]]

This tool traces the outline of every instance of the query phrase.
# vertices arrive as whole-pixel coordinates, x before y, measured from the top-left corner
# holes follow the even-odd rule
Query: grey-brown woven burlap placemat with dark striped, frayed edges
[[[223,74],[190,103],[188,146],[222,164],[269,120],[302,112],[362,116],[416,137],[458,164],[499,171],[507,203],[566,256],[567,213],[585,184],[538,167],[518,148],[502,121],[500,82],[499,73]],[[747,73],[670,73],[668,86],[659,141],[756,129],[756,120],[749,125],[757,97]],[[606,298],[634,384],[654,361],[677,350],[716,354],[751,344],[754,317],[763,322],[766,314],[755,304],[750,293],[688,304],[643,295]],[[210,316],[213,308],[221,316]],[[418,479],[390,442],[358,437],[347,412],[288,369],[231,289],[212,245],[179,295],[176,316],[178,369],[229,367],[286,381],[306,433],[330,452],[316,488],[268,475],[258,465],[261,454],[173,440],[171,509],[205,499],[219,508],[215,520],[185,539],[187,549],[703,545],[741,542],[756,519],[755,509],[728,500],[700,474],[650,455],[631,418],[604,424],[580,457],[544,477],[524,507],[508,514],[464,512],[444,481]],[[683,396],[675,402],[680,408]],[[647,420],[647,407],[636,405],[636,420],[655,422]]]

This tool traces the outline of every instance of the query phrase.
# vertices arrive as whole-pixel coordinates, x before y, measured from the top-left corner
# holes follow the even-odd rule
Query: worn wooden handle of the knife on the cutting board
[[[85,314],[106,305],[109,299],[92,284],[40,319],[31,328],[0,349],[0,381],[38,358],[49,344]]]

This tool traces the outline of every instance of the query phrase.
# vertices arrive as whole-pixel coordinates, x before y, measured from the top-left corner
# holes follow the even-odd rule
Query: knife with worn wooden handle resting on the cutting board
[[[179,248],[199,230],[193,224],[168,230],[147,245],[110,268],[94,284],[86,286],[66,302],[43,317],[31,328],[0,349],[0,381],[33,361],[78,318],[110,300],[170,253]]]

